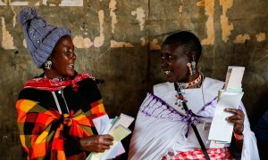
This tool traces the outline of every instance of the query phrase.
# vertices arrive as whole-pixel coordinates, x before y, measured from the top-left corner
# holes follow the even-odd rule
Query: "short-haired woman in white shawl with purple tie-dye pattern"
[[[224,83],[198,72],[201,52],[199,39],[188,31],[165,39],[161,67],[168,82],[156,84],[141,104],[129,159],[259,159],[242,103],[225,110],[233,114],[227,118],[234,124],[230,145],[209,148],[209,128]]]

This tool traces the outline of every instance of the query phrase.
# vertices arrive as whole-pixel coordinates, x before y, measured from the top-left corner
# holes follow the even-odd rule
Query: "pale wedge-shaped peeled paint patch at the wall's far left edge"
[[[5,27],[4,24],[4,17],[1,17],[2,20],[2,46],[5,50],[13,50],[16,49],[16,47],[14,46],[13,43],[13,36],[11,36],[11,34],[9,34],[8,30]]]

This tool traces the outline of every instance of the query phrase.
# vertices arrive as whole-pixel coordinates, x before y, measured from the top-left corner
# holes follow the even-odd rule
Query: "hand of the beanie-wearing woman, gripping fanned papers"
[[[105,135],[92,135],[80,139],[80,148],[88,152],[105,152],[113,145],[113,137],[109,134]]]

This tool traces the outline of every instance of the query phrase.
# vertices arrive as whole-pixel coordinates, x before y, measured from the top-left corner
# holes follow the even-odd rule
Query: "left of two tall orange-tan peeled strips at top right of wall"
[[[205,7],[205,14],[208,18],[205,22],[207,37],[201,40],[201,44],[214,44],[214,0],[203,0],[197,3],[199,7]]]

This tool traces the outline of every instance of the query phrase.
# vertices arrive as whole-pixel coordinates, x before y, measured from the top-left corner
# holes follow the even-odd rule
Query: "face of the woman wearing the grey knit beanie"
[[[76,55],[74,53],[74,45],[71,36],[63,36],[59,39],[54,47],[51,59],[53,76],[61,78],[64,76],[73,76],[74,62]]]

